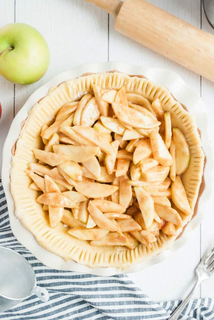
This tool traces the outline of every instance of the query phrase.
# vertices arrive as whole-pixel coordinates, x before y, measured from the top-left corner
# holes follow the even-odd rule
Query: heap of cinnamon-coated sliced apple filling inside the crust
[[[92,246],[134,249],[160,232],[175,236],[192,214],[182,183],[188,143],[158,98],[94,84],[42,126],[41,138],[26,173],[51,228],[63,223]]]

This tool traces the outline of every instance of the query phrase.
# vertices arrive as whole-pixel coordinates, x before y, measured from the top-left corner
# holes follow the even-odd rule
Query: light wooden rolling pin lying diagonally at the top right
[[[116,18],[115,30],[214,82],[214,36],[146,0],[86,0]]]

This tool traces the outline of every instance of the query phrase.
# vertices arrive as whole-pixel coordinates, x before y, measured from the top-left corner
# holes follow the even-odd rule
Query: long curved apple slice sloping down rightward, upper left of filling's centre
[[[88,139],[97,147],[100,147],[101,150],[106,152],[108,155],[112,155],[112,148],[108,140],[106,139],[105,135],[101,132],[96,131],[94,128],[91,127],[83,127],[81,125],[73,127],[73,130],[81,135],[82,137]]]

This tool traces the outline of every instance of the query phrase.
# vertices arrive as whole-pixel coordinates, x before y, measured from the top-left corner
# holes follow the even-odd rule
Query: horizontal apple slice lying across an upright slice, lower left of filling
[[[78,208],[72,200],[66,198],[61,193],[47,192],[43,193],[36,199],[36,202],[41,204],[48,204],[55,207],[65,207],[65,208]]]

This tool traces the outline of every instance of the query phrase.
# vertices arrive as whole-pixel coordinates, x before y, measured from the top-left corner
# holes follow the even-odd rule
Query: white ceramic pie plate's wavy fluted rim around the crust
[[[89,268],[80,265],[74,261],[65,261],[61,257],[47,251],[41,247],[35,237],[22,226],[20,221],[15,217],[14,214],[14,202],[10,192],[10,169],[11,169],[11,148],[17,140],[20,132],[21,122],[28,116],[28,111],[33,105],[42,97],[44,97],[51,87],[57,86],[59,83],[74,79],[86,72],[105,72],[109,70],[118,70],[129,75],[144,75],[152,82],[165,86],[170,90],[173,96],[182,104],[186,106],[188,111],[194,114],[198,128],[201,130],[201,139],[204,153],[207,157],[207,164],[205,166],[204,177],[206,188],[203,192],[196,216],[188,223],[183,235],[174,242],[172,248],[150,258],[146,262],[140,263],[128,269],[120,268]],[[75,69],[67,72],[63,72],[58,76],[55,76],[48,83],[44,84],[41,88],[37,89],[26,101],[24,106],[20,109],[18,114],[15,116],[8,136],[4,143],[3,148],[3,163],[2,163],[2,183],[4,192],[7,199],[10,225],[14,236],[24,245],[35,257],[40,260],[44,265],[67,271],[78,271],[84,273],[91,273],[98,276],[111,276],[123,272],[137,272],[146,267],[152,266],[159,263],[181,248],[192,234],[197,226],[202,221],[203,214],[206,212],[206,206],[212,193],[212,151],[209,145],[209,137],[207,132],[207,109],[204,105],[201,97],[194,92],[176,73],[165,69],[159,68],[146,68],[142,66],[134,66],[130,64],[118,63],[118,62],[106,62],[106,63],[95,63],[81,65]]]

